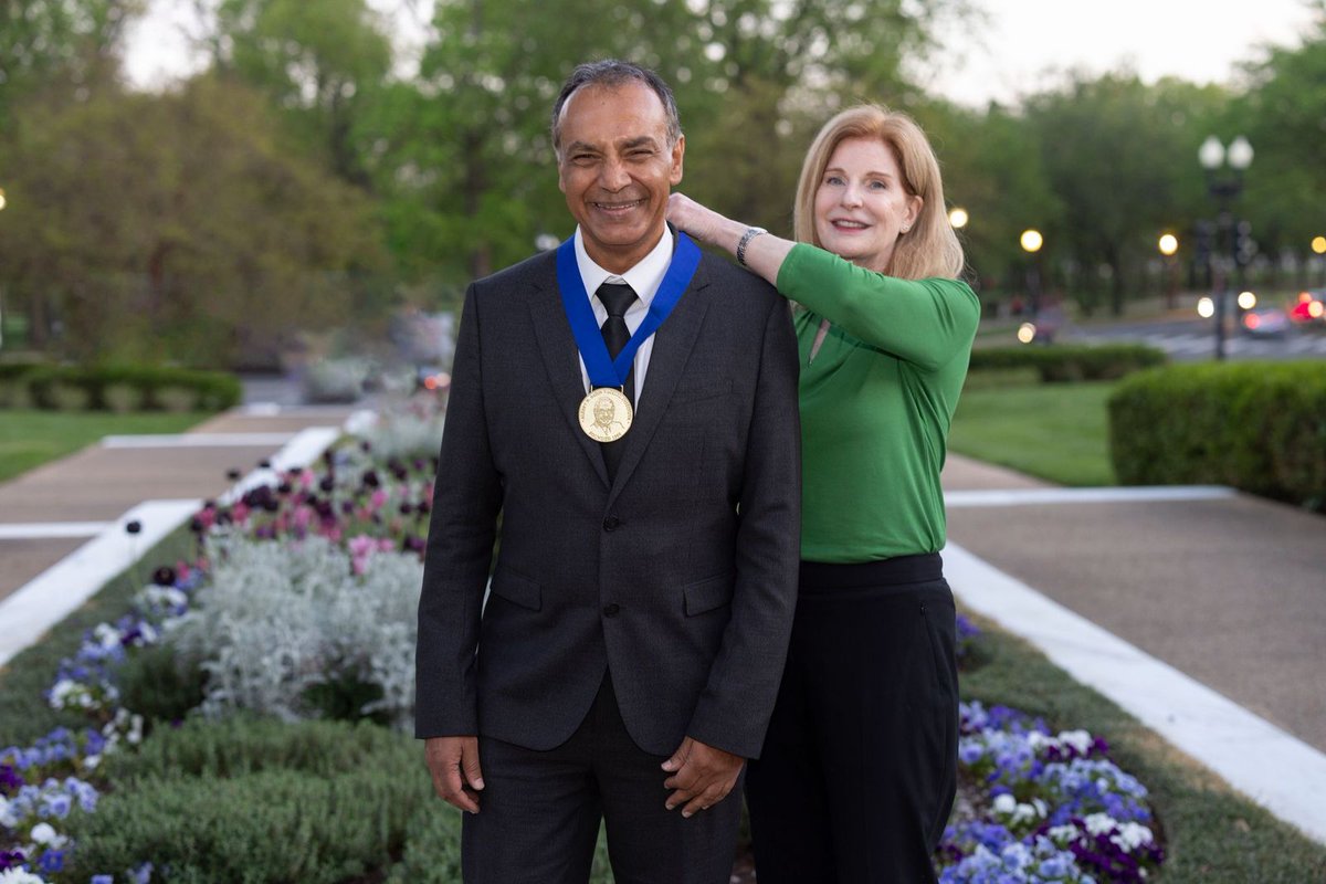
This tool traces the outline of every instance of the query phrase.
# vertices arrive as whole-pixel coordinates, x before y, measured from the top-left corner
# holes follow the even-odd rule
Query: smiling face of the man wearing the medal
[[[629,270],[663,236],[686,138],[668,147],[663,102],[631,82],[575,90],[562,106],[561,142],[557,183],[585,250],[605,270]]]

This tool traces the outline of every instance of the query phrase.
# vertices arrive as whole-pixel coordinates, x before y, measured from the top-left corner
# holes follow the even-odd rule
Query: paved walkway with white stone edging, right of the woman
[[[1326,518],[1225,488],[944,472],[945,571],[1233,786],[1326,843]]]

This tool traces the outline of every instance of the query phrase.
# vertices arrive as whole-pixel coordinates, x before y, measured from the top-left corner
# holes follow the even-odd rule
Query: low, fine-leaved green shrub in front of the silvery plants
[[[150,860],[170,881],[341,884],[438,812],[419,745],[373,725],[190,721],[106,761],[115,789],[72,820],[69,880]]]

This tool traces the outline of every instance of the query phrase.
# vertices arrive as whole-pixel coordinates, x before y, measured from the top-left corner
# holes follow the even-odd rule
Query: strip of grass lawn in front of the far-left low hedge
[[[90,445],[102,436],[178,433],[210,414],[103,411],[0,411],[0,482]]]

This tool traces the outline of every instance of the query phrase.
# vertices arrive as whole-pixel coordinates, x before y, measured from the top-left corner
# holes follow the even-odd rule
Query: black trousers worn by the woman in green
[[[747,803],[760,884],[935,881],[957,787],[953,595],[937,554],[802,562]]]

